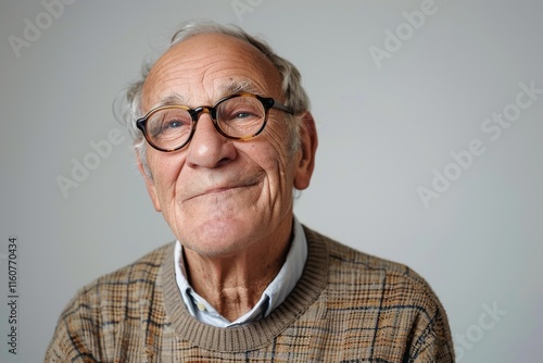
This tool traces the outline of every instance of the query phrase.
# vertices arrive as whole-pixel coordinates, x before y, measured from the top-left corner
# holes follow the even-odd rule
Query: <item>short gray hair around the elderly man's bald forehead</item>
[[[277,67],[281,79],[281,90],[285,96],[285,105],[290,108],[294,115],[288,115],[288,134],[290,136],[290,151],[295,152],[300,148],[300,114],[310,110],[310,99],[302,87],[301,75],[296,67],[288,60],[277,55],[266,41],[253,37],[236,25],[220,25],[213,22],[188,22],[174,34],[169,46],[173,46],[201,34],[225,34],[249,42],[258,49]],[[166,50],[167,50],[166,49]],[[126,124],[134,141],[135,151],[139,154],[147,175],[152,178],[146,158],[146,139],[140,129],[136,127],[136,120],[142,116],[141,92],[143,84],[154,62],[143,62],[141,77],[130,84],[124,92],[115,100],[114,113],[116,118]]]

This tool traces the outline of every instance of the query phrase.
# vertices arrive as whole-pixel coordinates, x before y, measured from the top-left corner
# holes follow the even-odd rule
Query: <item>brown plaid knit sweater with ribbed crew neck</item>
[[[261,321],[217,328],[194,320],[171,243],[83,288],[46,362],[454,362],[445,311],[421,277],[305,234],[302,277]]]

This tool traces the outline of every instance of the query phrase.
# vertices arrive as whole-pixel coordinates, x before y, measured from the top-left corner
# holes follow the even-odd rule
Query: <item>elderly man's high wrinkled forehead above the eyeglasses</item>
[[[282,99],[277,67],[249,42],[202,34],[168,49],[153,65],[142,90],[142,111],[164,104],[198,107],[252,92]]]

